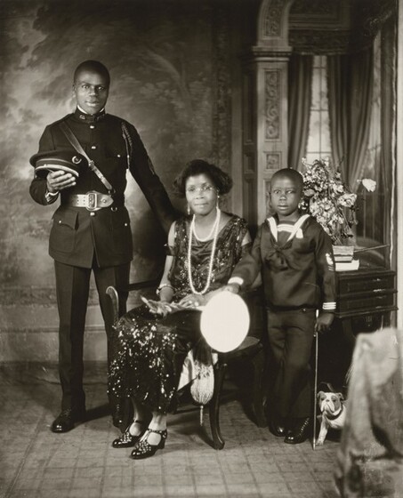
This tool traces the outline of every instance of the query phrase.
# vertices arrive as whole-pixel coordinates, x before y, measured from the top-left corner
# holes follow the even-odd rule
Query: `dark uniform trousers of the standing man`
[[[101,313],[108,341],[108,365],[113,333],[113,314],[106,290],[109,285],[125,287],[129,283],[130,262],[100,268],[94,258],[93,268],[79,268],[54,261],[56,293],[60,317],[59,327],[59,375],[62,390],[61,410],[85,410],[84,331],[85,315],[90,291],[91,272],[95,277]],[[127,293],[119,294],[120,313],[125,313]]]

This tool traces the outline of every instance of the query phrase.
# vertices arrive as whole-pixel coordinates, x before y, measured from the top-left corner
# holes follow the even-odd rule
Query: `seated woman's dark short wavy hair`
[[[218,166],[211,165],[203,159],[193,159],[190,161],[181,173],[173,181],[173,189],[176,195],[180,197],[186,196],[186,181],[190,176],[197,174],[206,174],[214,183],[219,194],[228,194],[232,189],[232,179],[229,174],[223,172]]]

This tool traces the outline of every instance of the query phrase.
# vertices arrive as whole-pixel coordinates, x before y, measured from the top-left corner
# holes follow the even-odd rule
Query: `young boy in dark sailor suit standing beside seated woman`
[[[259,228],[250,254],[225,289],[237,293],[262,270],[270,348],[275,361],[270,431],[295,445],[309,436],[312,392],[310,352],[314,332],[333,322],[335,277],[332,242],[309,214],[301,214],[302,175],[273,174],[273,216]],[[317,309],[319,309],[317,317]]]

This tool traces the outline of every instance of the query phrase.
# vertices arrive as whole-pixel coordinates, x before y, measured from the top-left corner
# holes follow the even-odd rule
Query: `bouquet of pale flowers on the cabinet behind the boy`
[[[330,167],[328,159],[317,159],[310,165],[302,158],[302,165],[301,209],[322,225],[334,245],[347,245],[346,241],[353,237],[351,228],[357,223],[357,195],[347,187],[342,173]],[[375,190],[375,181],[363,179],[361,182],[368,191]]]

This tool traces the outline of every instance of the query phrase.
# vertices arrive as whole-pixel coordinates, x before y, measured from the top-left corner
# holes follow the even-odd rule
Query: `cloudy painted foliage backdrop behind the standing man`
[[[35,357],[28,352],[34,337],[40,348],[39,336],[57,329],[47,253],[54,208],[29,197],[33,168],[28,159],[44,126],[74,109],[77,64],[95,59],[109,68],[107,111],[137,127],[171,195],[174,176],[191,158],[229,169],[229,5],[2,1],[0,361]],[[162,261],[164,237],[134,181],[126,195],[133,223],[132,279],[150,277]],[[101,326],[96,313],[87,322],[94,330]],[[21,335],[28,331],[31,335]],[[21,353],[17,343],[27,343],[27,351]]]

